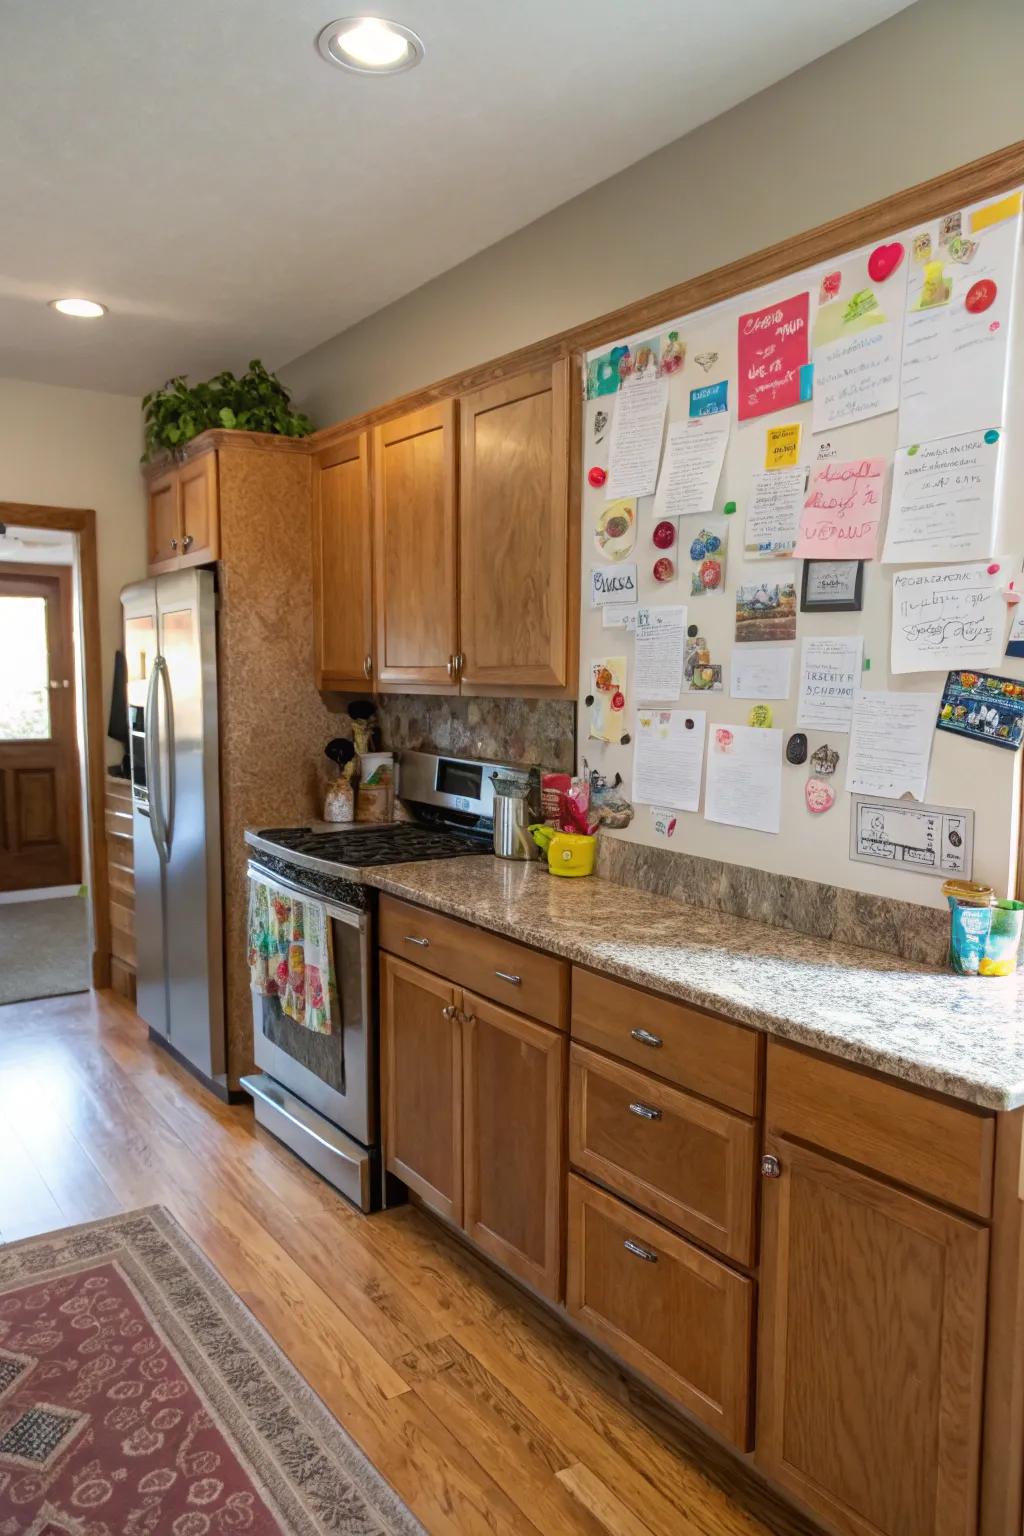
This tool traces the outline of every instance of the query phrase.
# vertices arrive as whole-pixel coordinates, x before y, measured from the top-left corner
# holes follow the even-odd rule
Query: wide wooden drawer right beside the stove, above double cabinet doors
[[[570,991],[565,960],[390,895],[381,897],[379,928],[382,949],[565,1029]]]

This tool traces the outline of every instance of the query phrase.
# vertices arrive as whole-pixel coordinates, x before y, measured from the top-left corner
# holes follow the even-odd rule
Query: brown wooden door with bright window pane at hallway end
[[[69,565],[0,565],[0,891],[81,882]]]

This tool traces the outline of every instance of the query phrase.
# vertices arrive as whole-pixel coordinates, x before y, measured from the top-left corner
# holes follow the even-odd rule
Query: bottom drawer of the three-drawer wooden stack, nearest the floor
[[[752,1301],[752,1281],[570,1174],[570,1315],[742,1450]]]

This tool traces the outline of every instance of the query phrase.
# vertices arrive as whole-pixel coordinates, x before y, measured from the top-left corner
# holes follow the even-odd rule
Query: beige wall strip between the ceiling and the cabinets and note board
[[[281,375],[327,425],[999,149],[1022,58],[1021,0],[918,0]]]

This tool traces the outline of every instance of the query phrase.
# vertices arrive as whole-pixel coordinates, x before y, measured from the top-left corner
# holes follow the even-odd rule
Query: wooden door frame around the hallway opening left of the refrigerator
[[[84,774],[89,826],[89,891],[92,900],[92,985],[111,985],[111,906],[106,862],[106,753],[103,728],[103,650],[100,642],[100,573],[97,562],[97,515],[91,507],[37,507],[0,501],[0,522],[23,528],[49,528],[78,536],[78,584],[81,599],[81,676],[84,699]]]

